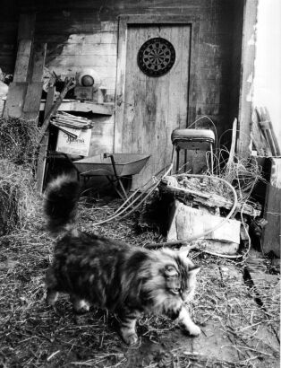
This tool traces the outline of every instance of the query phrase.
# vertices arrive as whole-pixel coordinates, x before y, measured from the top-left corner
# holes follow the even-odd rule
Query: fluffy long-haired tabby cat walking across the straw
[[[199,335],[185,302],[192,299],[200,267],[179,251],[145,250],[78,231],[79,197],[79,184],[66,176],[46,191],[48,229],[59,235],[47,270],[47,302],[54,305],[62,292],[70,294],[74,311],[89,311],[92,304],[115,312],[129,345],[138,340],[135,325],[143,312],[165,314]]]

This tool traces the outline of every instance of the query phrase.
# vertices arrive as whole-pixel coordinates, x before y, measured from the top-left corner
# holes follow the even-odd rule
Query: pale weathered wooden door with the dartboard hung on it
[[[139,49],[148,39],[167,39],[175,48],[175,64],[168,73],[148,76],[138,66]],[[186,127],[191,29],[188,24],[128,25],[125,57],[123,121],[120,129],[121,153],[150,153],[132,188],[139,188],[171,162],[171,133]]]

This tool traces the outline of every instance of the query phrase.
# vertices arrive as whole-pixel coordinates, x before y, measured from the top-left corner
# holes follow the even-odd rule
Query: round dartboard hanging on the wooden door
[[[166,74],[175,63],[175,48],[167,39],[148,39],[138,52],[138,65],[144,74]]]

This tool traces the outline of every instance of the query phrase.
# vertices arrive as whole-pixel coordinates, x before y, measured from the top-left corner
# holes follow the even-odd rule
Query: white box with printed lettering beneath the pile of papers
[[[77,138],[73,138],[59,130],[55,151],[88,156],[91,129],[77,129],[77,136]]]

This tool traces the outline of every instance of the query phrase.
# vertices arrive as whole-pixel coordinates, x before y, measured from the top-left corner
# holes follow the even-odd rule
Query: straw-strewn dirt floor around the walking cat
[[[144,246],[162,241],[140,232],[131,217],[93,226],[120,201],[81,206],[81,228]],[[40,206],[39,206],[40,207]],[[53,241],[37,215],[21,232],[0,239],[0,367],[279,367],[279,275],[265,260],[251,267],[191,251],[200,264],[191,305],[200,337],[184,336],[170,320],[145,316],[140,344],[127,347],[115,317],[92,310],[75,316],[63,296],[57,311],[45,302],[44,275]]]

